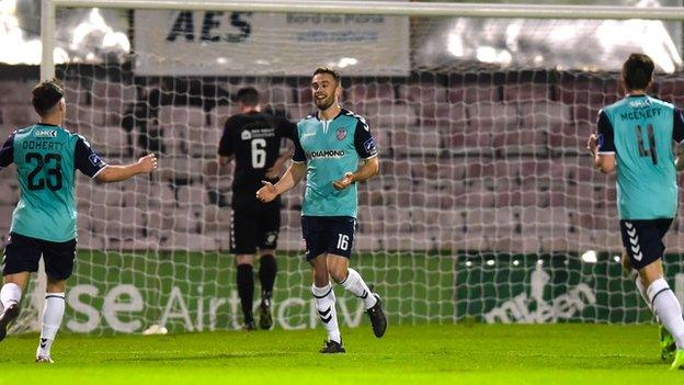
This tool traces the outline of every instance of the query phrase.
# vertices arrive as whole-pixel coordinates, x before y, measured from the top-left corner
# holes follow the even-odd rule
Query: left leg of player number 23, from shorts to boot
[[[37,239],[10,234],[4,247],[3,285],[0,290],[0,341],[7,336],[10,324],[19,317],[21,297],[29,283],[30,273],[38,270],[41,246]]]

